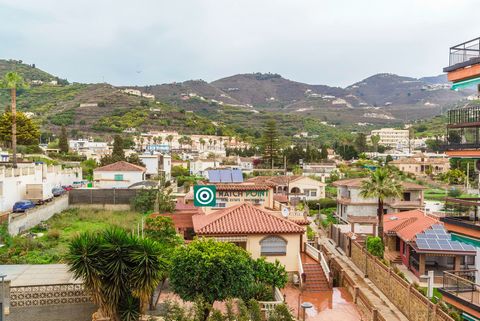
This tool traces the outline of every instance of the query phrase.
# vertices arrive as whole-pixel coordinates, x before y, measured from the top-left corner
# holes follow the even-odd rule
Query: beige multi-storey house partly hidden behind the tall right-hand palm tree
[[[337,216],[352,225],[372,225],[372,234],[376,231],[378,201],[375,198],[360,196],[362,182],[367,178],[344,179],[333,183],[337,187]],[[420,209],[423,205],[424,186],[402,182],[403,194],[398,198],[389,198],[384,203],[384,214]]]

